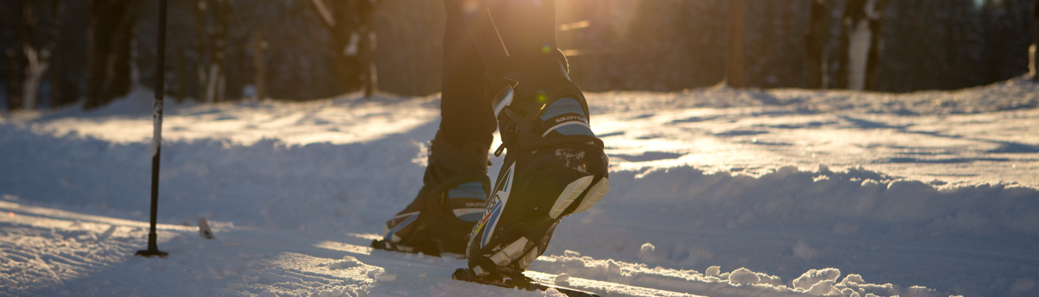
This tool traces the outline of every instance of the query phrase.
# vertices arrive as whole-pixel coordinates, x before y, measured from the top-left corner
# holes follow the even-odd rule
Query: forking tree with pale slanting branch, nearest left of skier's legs
[[[378,89],[375,67],[375,31],[372,13],[376,0],[311,0],[332,36],[336,72],[346,90],[362,89],[371,96]]]

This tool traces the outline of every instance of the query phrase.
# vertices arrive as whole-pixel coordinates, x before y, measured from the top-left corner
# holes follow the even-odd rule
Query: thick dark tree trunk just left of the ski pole
[[[130,39],[137,4],[136,0],[94,1],[87,28],[84,109],[102,107],[130,92]]]

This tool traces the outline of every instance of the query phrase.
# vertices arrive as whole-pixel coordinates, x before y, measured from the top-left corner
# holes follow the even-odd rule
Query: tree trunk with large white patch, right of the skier
[[[852,90],[874,90],[880,65],[880,36],[888,0],[849,0],[841,33],[837,84]]]

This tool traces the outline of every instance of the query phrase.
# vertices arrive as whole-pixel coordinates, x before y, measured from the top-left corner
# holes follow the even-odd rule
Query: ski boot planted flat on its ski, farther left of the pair
[[[462,258],[469,232],[485,208],[490,179],[488,145],[452,146],[442,131],[429,147],[422,189],[410,205],[387,221],[372,247]]]

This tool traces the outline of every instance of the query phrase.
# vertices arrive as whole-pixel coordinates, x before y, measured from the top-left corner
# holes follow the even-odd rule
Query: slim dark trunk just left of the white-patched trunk
[[[804,49],[807,61],[805,68],[808,75],[809,89],[825,89],[826,80],[826,41],[829,30],[826,26],[826,0],[811,1],[811,20],[804,34]]]

